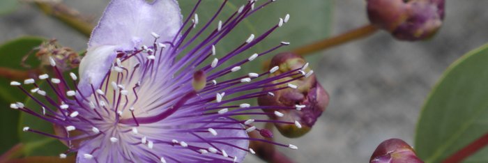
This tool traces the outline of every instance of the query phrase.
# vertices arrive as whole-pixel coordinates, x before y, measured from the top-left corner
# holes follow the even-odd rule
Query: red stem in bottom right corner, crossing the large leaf
[[[487,145],[488,145],[488,133],[476,139],[475,141],[469,143],[468,146],[465,146],[461,150],[458,150],[456,153],[450,155],[450,157],[443,160],[443,163],[461,162],[462,160],[473,155],[474,153],[478,152],[478,150],[484,148]]]

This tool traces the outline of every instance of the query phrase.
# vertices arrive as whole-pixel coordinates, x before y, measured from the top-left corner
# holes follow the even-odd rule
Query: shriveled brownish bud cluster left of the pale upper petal
[[[40,67],[46,68],[51,65],[50,59],[53,59],[59,66],[61,71],[71,70],[77,68],[81,58],[75,50],[70,47],[63,47],[59,45],[55,39],[43,42],[42,45],[36,47],[38,50],[35,56],[40,60]],[[29,57],[29,54],[24,56],[22,60],[22,65],[24,67],[30,67],[30,65],[25,65],[25,61]]]

